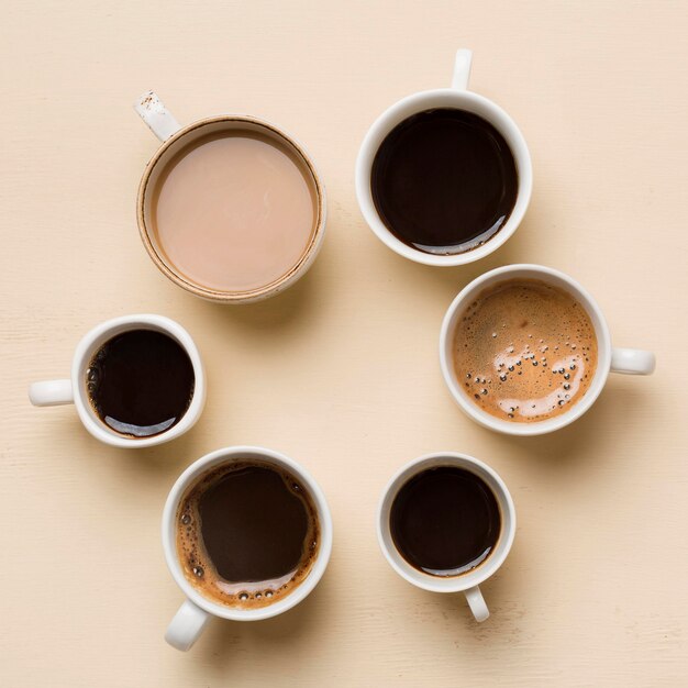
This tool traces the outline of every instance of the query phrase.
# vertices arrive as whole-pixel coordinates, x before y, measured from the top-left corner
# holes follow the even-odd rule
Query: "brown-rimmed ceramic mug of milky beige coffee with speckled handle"
[[[143,174],[137,218],[169,279],[211,301],[248,303],[308,270],[324,234],[325,192],[300,144],[240,114],[182,127],[152,91],[135,109],[163,142]]]

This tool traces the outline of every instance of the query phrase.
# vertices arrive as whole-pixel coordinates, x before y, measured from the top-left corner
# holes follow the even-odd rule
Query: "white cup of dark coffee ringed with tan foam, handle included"
[[[297,462],[233,446],[179,476],[163,512],[163,547],[187,598],[165,640],[187,651],[211,617],[259,621],[301,602],[330,561],[332,518]]]

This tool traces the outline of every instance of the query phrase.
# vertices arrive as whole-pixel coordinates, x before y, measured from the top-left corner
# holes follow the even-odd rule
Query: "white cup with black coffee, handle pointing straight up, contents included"
[[[468,90],[471,59],[458,51],[450,88],[386,110],[356,160],[366,222],[389,248],[425,265],[492,253],[515,232],[531,198],[525,140],[507,112]]]

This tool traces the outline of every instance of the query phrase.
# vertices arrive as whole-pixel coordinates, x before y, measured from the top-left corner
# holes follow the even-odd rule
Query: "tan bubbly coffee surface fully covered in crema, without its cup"
[[[454,366],[482,410],[517,423],[543,421],[588,391],[597,336],[585,308],[566,291],[536,279],[507,280],[462,314]]]

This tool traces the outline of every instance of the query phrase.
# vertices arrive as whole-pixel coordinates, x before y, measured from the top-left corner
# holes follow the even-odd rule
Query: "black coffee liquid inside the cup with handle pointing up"
[[[487,120],[443,108],[414,114],[382,141],[370,190],[387,228],[425,253],[476,248],[506,224],[519,187],[504,137]]]

